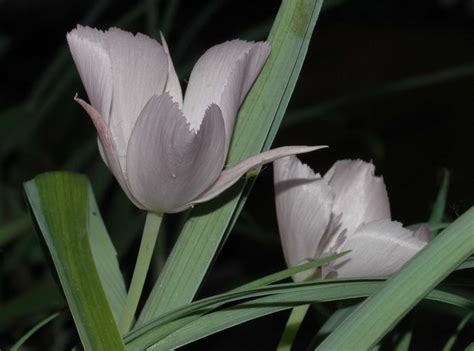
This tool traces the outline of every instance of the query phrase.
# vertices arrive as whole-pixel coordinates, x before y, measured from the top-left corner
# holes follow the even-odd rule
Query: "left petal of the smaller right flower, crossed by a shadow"
[[[334,195],[319,174],[295,156],[273,163],[278,228],[289,267],[316,257],[329,225]],[[303,272],[304,280],[312,272]]]

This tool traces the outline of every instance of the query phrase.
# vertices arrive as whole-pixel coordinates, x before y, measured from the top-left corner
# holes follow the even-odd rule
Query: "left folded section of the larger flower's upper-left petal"
[[[101,35],[98,30],[78,27],[66,39],[90,104],[107,123],[112,102],[112,63],[99,42]]]

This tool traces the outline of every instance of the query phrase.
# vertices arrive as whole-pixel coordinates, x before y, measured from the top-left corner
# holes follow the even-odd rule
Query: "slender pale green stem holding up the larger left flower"
[[[128,290],[127,302],[125,303],[122,318],[119,322],[119,330],[122,335],[130,330],[133,319],[135,318],[135,312],[137,310],[138,302],[140,301],[148,268],[150,267],[150,261],[153,256],[162,219],[163,215],[159,213],[148,212],[146,216],[142,242],[140,243],[132,282],[130,283],[130,289]]]

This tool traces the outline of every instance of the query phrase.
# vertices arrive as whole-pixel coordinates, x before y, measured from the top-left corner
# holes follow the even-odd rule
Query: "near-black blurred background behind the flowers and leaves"
[[[92,123],[72,100],[85,94],[66,32],[77,23],[155,36],[162,30],[185,84],[210,46],[235,37],[263,40],[279,3],[0,0],[0,348],[64,306],[25,212],[22,182],[50,170],[87,174],[127,279],[144,221],[102,164]],[[384,176],[393,218],[405,224],[429,218],[449,170],[446,219],[454,219],[474,195],[473,75],[474,1],[327,1],[274,146],[329,145],[302,157],[319,172],[337,159],[372,160]],[[169,221],[171,232],[177,221]],[[168,250],[173,240],[170,235]],[[200,296],[284,267],[272,171],[265,167]],[[310,313],[298,349],[336,307]],[[247,323],[189,349],[274,349],[286,316]],[[456,310],[421,304],[383,346],[390,349],[394,335],[413,327],[411,349],[441,349],[458,322]],[[456,348],[473,341],[465,334]],[[75,342],[66,315],[28,345],[63,350]]]

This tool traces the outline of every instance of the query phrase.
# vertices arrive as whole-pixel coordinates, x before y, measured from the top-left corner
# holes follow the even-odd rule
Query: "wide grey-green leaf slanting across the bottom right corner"
[[[473,250],[471,208],[393,275],[377,294],[364,301],[318,350],[371,349]]]

